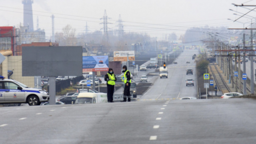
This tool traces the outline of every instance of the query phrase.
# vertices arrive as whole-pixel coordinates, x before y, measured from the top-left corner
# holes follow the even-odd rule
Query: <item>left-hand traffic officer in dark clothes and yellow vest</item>
[[[116,76],[113,72],[112,68],[108,69],[108,73],[104,77],[105,81],[107,81],[107,89],[108,89],[108,102],[113,102],[113,94],[116,84]]]

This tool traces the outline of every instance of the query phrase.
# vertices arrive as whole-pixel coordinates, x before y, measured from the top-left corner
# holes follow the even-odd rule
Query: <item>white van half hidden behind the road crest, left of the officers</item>
[[[79,93],[75,104],[94,104],[108,102],[107,93]]]

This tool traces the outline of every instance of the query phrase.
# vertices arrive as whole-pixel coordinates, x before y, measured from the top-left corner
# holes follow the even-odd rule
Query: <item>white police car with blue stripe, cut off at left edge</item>
[[[29,88],[28,86],[12,79],[0,80],[0,104],[28,103],[40,105],[49,101],[46,90]]]

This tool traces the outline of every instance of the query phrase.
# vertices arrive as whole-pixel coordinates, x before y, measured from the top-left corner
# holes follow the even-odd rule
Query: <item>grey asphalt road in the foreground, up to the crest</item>
[[[252,99],[0,108],[1,144],[254,144]]]

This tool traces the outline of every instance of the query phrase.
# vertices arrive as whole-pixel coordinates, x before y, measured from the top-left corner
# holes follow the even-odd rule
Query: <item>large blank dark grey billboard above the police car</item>
[[[22,76],[81,76],[81,46],[22,48]]]

